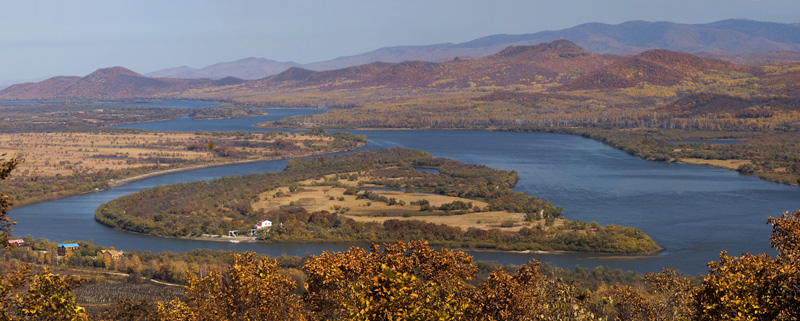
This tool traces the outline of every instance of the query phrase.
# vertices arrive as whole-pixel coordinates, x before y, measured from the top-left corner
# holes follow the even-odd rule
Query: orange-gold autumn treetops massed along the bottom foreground
[[[475,280],[469,255],[424,241],[311,256],[304,293],[271,259],[235,254],[225,272],[191,275],[153,320],[795,320],[800,211],[772,218],[777,258],[722,253],[700,286],[665,269],[639,286],[594,290],[531,261]]]

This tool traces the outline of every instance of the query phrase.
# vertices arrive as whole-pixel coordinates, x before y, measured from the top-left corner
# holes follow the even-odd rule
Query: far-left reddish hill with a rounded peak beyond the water
[[[99,69],[83,78],[60,78],[64,77],[9,87],[0,91],[0,99],[147,98],[214,85],[208,79],[149,78],[122,67]]]

